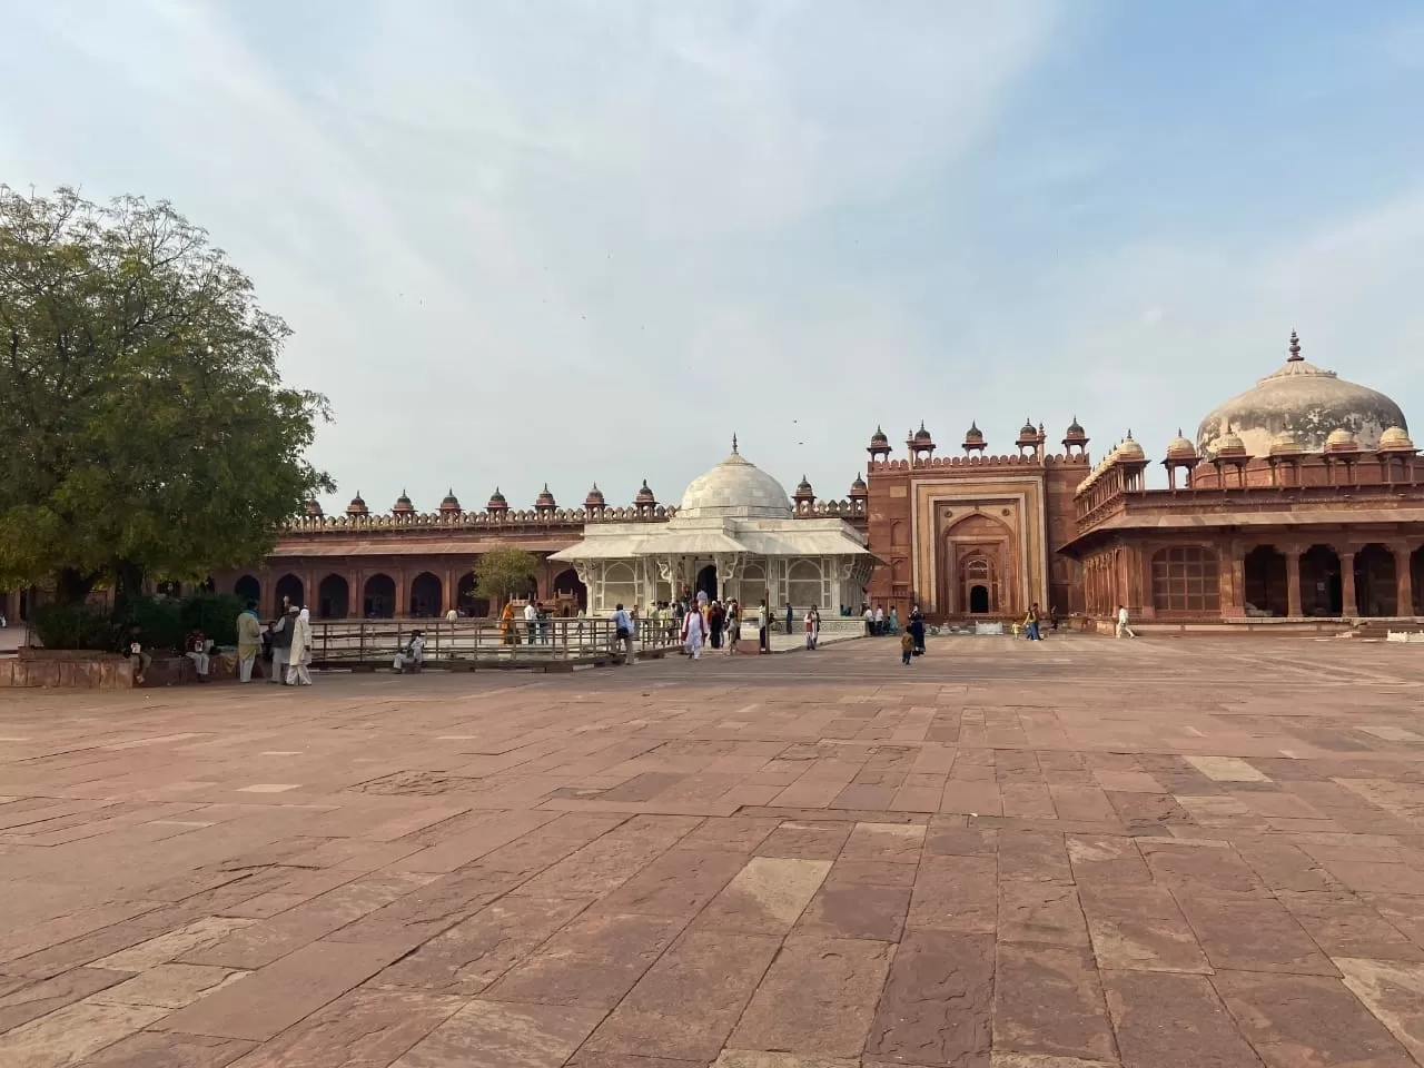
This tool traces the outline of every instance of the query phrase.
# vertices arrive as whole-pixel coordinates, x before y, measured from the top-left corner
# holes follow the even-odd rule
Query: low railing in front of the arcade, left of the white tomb
[[[312,624],[318,668],[390,666],[414,631],[427,666],[473,671],[538,662],[608,662],[624,652],[611,619],[333,619]],[[634,627],[635,654],[662,654],[678,635],[654,621]]]

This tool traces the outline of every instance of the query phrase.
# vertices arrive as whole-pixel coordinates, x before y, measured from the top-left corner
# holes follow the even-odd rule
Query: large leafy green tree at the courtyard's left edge
[[[124,598],[265,555],[332,488],[288,335],[168,202],[0,185],[0,587]]]

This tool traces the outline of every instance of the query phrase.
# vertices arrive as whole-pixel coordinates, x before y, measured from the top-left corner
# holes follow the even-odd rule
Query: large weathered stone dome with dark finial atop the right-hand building
[[[1300,342],[1290,335],[1290,357],[1253,389],[1212,412],[1196,430],[1196,447],[1213,456],[1227,431],[1240,437],[1249,456],[1267,456],[1272,443],[1289,433],[1309,453],[1326,447],[1330,431],[1350,430],[1360,449],[1373,450],[1391,426],[1408,429],[1400,406],[1367,386],[1336,377],[1333,370],[1307,363]]]

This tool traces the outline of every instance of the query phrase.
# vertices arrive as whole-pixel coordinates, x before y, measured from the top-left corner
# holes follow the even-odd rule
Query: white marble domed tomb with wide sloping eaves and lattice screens
[[[588,609],[651,605],[693,591],[755,607],[817,605],[833,615],[859,605],[876,558],[866,538],[836,517],[796,515],[776,478],[732,453],[693,478],[676,513],[651,528],[590,524],[553,555],[588,588]]]

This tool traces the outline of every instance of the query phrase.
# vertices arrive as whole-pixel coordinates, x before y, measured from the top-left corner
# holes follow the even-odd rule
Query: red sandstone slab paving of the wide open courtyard
[[[0,695],[4,1068],[1404,1068],[1418,648]]]

